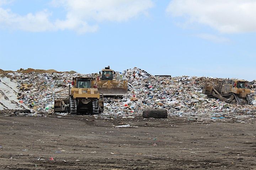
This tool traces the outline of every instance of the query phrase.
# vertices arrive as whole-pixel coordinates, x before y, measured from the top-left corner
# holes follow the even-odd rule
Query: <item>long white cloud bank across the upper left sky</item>
[[[0,5],[5,3],[7,0],[0,0]],[[0,27],[31,32],[65,29],[78,33],[95,32],[101,22],[127,21],[138,15],[147,15],[149,8],[153,7],[151,0],[53,0],[51,4],[66,10],[65,19],[51,21],[54,13],[48,10],[21,16],[0,7]]]

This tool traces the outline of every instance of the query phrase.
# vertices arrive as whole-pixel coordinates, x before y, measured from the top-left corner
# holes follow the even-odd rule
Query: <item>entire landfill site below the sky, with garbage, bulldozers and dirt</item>
[[[0,69],[0,169],[256,169],[256,80],[102,68]]]

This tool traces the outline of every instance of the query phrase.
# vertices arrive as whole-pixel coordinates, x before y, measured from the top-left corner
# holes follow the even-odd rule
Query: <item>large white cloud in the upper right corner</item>
[[[222,33],[256,32],[255,0],[172,0],[166,12]]]

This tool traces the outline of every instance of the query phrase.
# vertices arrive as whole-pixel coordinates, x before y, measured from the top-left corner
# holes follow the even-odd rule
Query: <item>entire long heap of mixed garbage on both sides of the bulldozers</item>
[[[225,103],[202,94],[206,77],[155,77],[139,68],[122,72],[128,80],[128,93],[122,98],[104,98],[104,117],[133,118],[143,109],[165,108],[172,116],[254,115],[256,93],[252,82],[251,105]],[[13,72],[7,76],[18,85],[18,100],[35,112],[53,114],[54,93],[71,85],[73,77],[97,77],[98,74],[72,72]]]

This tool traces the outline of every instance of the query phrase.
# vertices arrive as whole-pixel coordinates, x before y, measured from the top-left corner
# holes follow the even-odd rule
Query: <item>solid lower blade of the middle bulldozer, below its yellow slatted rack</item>
[[[113,88],[113,89],[108,89],[104,87],[98,87],[98,91],[103,94],[104,97],[121,97],[123,95],[127,94],[127,89],[122,89],[122,88]]]

